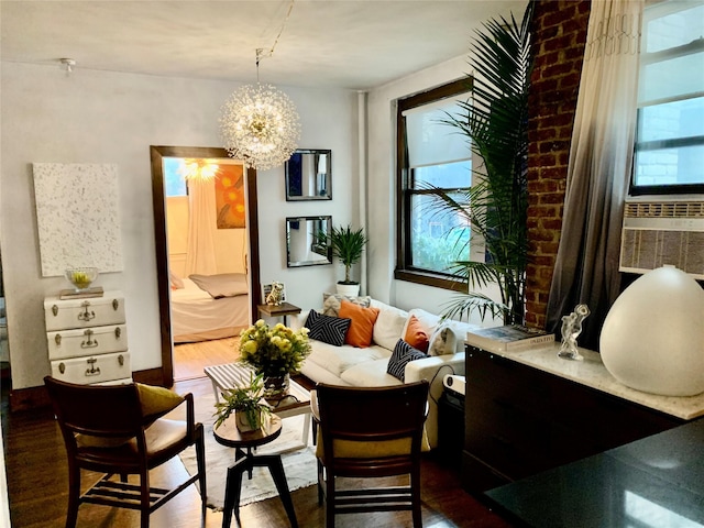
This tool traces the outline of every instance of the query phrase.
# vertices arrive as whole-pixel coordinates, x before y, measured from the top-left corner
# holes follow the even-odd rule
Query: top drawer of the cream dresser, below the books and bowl
[[[46,331],[124,323],[124,298],[110,294],[114,293],[107,292],[102,297],[89,299],[46,299]]]

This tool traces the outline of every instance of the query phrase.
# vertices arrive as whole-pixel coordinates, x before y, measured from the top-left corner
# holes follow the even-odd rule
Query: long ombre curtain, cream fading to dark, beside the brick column
[[[642,0],[593,0],[568,164],[562,234],[547,309],[562,316],[586,304],[580,344],[598,346],[620,292],[618,254],[632,163]]]

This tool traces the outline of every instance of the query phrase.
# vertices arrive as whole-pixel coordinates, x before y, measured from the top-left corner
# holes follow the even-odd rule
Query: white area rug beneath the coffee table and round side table
[[[221,510],[224,505],[224,486],[228,476],[228,468],[234,463],[234,449],[218,443],[212,436],[215,418],[215,395],[209,393],[196,399],[196,421],[200,421],[206,433],[206,483],[208,486],[208,506]],[[272,443],[256,449],[255,454],[267,454],[285,450],[288,447],[300,446],[304,427],[304,416],[294,416],[283,421],[280,436]],[[316,451],[311,444],[311,435],[305,449],[282,454],[284,472],[288,488],[293,492],[300,487],[315,484],[317,481]],[[196,472],[196,449],[189,448],[180,454],[180,459],[188,473]],[[267,468],[254,468],[252,480],[242,480],[242,495],[240,506],[256,503],[265,498],[278,495],[274,480]]]

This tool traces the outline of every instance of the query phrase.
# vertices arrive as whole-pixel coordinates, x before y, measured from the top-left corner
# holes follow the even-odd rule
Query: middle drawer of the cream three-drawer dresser
[[[48,359],[64,360],[87,354],[109,354],[128,350],[124,324],[47,332]]]

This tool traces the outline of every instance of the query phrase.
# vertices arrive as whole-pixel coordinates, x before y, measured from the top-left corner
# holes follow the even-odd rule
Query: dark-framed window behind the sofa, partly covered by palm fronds
[[[472,185],[469,139],[442,121],[470,98],[468,79],[398,101],[398,226],[396,278],[458,288],[451,266],[470,257],[470,226],[439,213],[430,186],[447,193]]]

